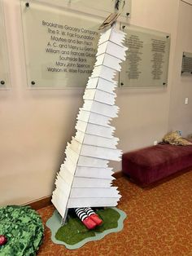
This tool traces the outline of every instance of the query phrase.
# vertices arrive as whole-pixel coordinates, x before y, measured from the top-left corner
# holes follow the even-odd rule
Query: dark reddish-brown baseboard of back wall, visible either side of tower
[[[113,177],[115,177],[116,179],[120,179],[123,176],[124,174],[122,171],[117,171],[115,174],[113,174]],[[28,202],[26,205],[31,206],[31,208],[34,210],[39,210],[51,204],[51,196],[45,196],[36,201]]]

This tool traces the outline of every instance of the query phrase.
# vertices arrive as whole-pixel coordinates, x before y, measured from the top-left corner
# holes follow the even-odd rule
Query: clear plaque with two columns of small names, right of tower
[[[120,72],[121,87],[164,87],[168,84],[170,35],[121,24],[127,33],[126,61]]]

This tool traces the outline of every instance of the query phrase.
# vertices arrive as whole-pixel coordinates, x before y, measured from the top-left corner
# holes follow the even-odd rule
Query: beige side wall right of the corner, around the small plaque
[[[181,130],[184,136],[192,134],[192,77],[181,77],[183,51],[192,52],[191,24],[192,5],[180,2],[170,99],[169,130]],[[189,99],[189,104],[185,104],[185,98]]]

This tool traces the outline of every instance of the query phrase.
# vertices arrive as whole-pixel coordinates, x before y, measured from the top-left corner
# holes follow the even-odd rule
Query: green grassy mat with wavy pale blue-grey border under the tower
[[[120,232],[124,227],[126,214],[116,207],[105,210],[96,210],[103,218],[103,225],[94,230],[87,229],[76,214],[69,214],[68,223],[61,225],[61,216],[57,210],[47,220],[46,226],[50,228],[51,240],[55,244],[65,245],[68,249],[78,249],[89,241],[98,241],[112,232]]]

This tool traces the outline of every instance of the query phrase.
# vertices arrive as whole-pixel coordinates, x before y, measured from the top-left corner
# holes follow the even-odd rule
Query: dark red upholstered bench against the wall
[[[146,186],[192,166],[192,146],[158,144],[124,153],[122,171],[136,183]]]

